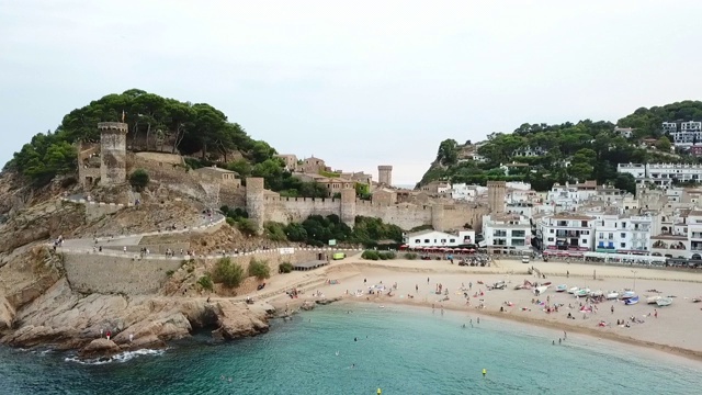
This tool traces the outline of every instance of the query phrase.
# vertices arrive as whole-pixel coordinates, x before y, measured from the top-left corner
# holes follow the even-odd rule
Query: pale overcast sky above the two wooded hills
[[[446,138],[700,99],[700,20],[699,0],[0,0],[0,162],[138,88],[414,184]]]

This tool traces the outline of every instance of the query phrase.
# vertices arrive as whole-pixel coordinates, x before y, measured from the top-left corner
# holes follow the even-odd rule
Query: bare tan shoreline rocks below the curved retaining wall
[[[190,336],[193,329],[217,328],[225,339],[268,331],[264,308],[245,303],[200,298],[90,294],[80,295],[61,279],[15,317],[18,329],[1,341],[11,346],[53,346],[81,349],[81,354],[99,353],[95,339],[112,335],[125,348],[158,348],[167,341]],[[92,346],[91,346],[92,345]],[[109,354],[111,350],[105,350]]]

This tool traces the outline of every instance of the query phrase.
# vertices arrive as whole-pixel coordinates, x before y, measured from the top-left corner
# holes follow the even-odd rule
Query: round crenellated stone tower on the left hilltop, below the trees
[[[122,122],[101,122],[100,184],[116,185],[127,180],[127,131]]]

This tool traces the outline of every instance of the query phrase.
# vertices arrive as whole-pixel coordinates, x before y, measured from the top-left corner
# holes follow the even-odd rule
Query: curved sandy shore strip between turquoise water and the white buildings
[[[534,266],[536,266],[537,269],[543,270],[544,273],[569,272],[573,274],[573,278],[547,275],[546,281],[551,281],[554,284],[553,286],[561,282],[565,283],[568,281],[569,283],[574,283],[574,285],[576,282],[589,282],[592,290],[622,290],[626,287],[624,283],[629,284],[629,282],[633,280],[631,274],[627,275],[627,273],[631,272],[631,269],[629,268],[554,262]],[[520,269],[522,272],[517,273],[516,271]],[[301,300],[291,300],[286,295],[279,295],[271,298],[270,303],[276,306],[281,312],[284,311],[285,305],[292,305],[294,308],[294,306],[298,306],[304,302],[315,303],[322,298],[339,298],[336,303],[348,305],[394,304],[420,308],[431,308],[432,305],[434,305],[437,308],[443,307],[451,312],[466,313],[471,315],[475,314],[477,316],[499,319],[505,323],[517,323],[529,327],[584,335],[593,340],[614,341],[619,345],[636,347],[642,351],[649,350],[666,352],[670,356],[682,357],[690,361],[702,362],[702,340],[694,338],[695,328],[698,325],[702,325],[702,314],[697,304],[692,304],[691,301],[689,301],[689,298],[694,295],[690,292],[695,292],[697,290],[694,287],[699,287],[698,282],[700,281],[700,278],[702,278],[700,273],[678,271],[654,272],[642,270],[643,275],[639,275],[636,279],[638,282],[637,289],[649,290],[656,289],[656,286],[658,286],[658,289],[666,289],[670,285],[671,289],[675,289],[676,293],[680,293],[680,297],[676,298],[676,303],[673,303],[672,306],[656,308],[656,306],[652,307],[646,305],[645,301],[644,304],[636,306],[624,306],[621,303],[604,302],[600,307],[602,313],[591,314],[587,318],[582,319],[578,318],[570,320],[565,319],[565,317],[561,317],[565,316],[567,312],[569,312],[568,309],[564,309],[557,314],[542,314],[537,305],[532,305],[530,303],[530,300],[535,297],[531,292],[526,290],[513,290],[513,286],[521,283],[522,279],[539,281],[534,280],[530,274],[523,273],[526,269],[528,267],[520,262],[509,262],[506,260],[497,261],[491,268],[458,268],[456,266],[450,266],[445,263],[445,261],[438,263],[424,263],[396,260],[393,262],[388,261],[387,263],[380,263],[375,261],[369,262],[363,260],[350,260],[340,264],[331,266],[325,271],[328,279],[341,279],[341,284],[325,284],[307,290],[308,292],[303,294]],[[591,275],[588,280],[587,272],[591,273],[593,270],[598,271],[599,275],[597,280],[592,280]],[[456,276],[456,274],[458,274],[458,276]],[[430,284],[428,284],[427,275],[437,279],[431,279]],[[435,282],[443,281],[445,286],[451,286],[451,290],[457,290],[457,284],[462,282],[467,284],[469,279],[472,279],[473,282],[476,282],[477,278],[483,279],[485,284],[491,284],[492,282],[500,280],[506,281],[508,282],[508,289],[500,291],[487,291],[485,285],[474,286],[473,292],[478,287],[483,290],[484,296],[480,297],[486,301],[485,308],[476,308],[474,301],[477,301],[478,298],[474,297],[469,298],[472,305],[466,306],[464,303],[465,298],[463,298],[463,296],[455,296],[457,292],[451,292],[451,300],[443,303],[434,301],[434,298],[442,295],[428,295],[427,292],[424,292],[427,287],[433,286]],[[362,297],[354,296],[356,290],[363,290],[371,283],[375,284],[378,281],[383,282],[383,279],[385,279],[385,284],[388,286],[396,281],[398,282],[397,290],[394,292],[393,296],[387,296],[385,294],[363,294]],[[363,280],[369,281],[364,283]],[[422,282],[419,282],[420,280]],[[420,291],[416,291],[417,285],[420,287]],[[575,302],[575,297],[573,295],[553,292],[553,286],[550,292],[543,295],[543,297],[550,295],[553,296],[554,300],[558,298],[561,303],[566,305],[568,304],[566,303],[568,302],[568,297],[570,298],[569,303]],[[347,287],[349,287],[349,294],[346,293]],[[324,297],[312,296],[309,295],[309,291],[319,292]],[[645,293],[646,292],[639,294],[644,296]],[[665,293],[664,295],[668,295],[670,293],[672,292]],[[684,295],[684,293],[688,293],[688,295]],[[404,297],[405,295],[412,295],[415,297]],[[494,296],[496,295],[505,302],[509,301],[513,304],[509,307],[503,305],[502,302],[496,304],[494,303]],[[455,300],[458,300],[458,303],[456,303]],[[610,314],[610,305],[618,311],[616,315],[614,315],[613,312]],[[500,312],[500,307],[505,307],[505,312]],[[529,311],[524,311],[522,308],[529,308]],[[654,309],[660,312],[660,318],[654,318],[650,316]],[[570,312],[576,316],[580,315],[577,309],[571,309]],[[692,312],[695,312],[697,314],[692,315]],[[600,319],[611,320],[616,319],[618,317],[629,318],[630,316],[644,317],[643,319],[646,320],[646,323],[632,325],[631,328],[618,327],[614,324],[608,324],[607,327],[599,327],[597,325]],[[679,318],[684,319],[681,320]],[[676,334],[669,334],[669,330],[687,332],[688,336],[681,337]],[[660,339],[672,339],[672,342],[664,342]]]

